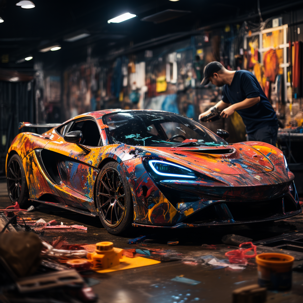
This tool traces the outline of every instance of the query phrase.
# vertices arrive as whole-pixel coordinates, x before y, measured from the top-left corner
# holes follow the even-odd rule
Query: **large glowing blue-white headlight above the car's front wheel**
[[[151,169],[160,176],[177,177],[177,178],[196,178],[194,172],[184,166],[171,162],[149,160]]]

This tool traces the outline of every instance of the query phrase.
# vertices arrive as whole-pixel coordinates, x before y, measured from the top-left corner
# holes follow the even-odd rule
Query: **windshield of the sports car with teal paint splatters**
[[[103,116],[111,143],[138,146],[220,146],[227,143],[199,123],[170,112],[116,112]]]

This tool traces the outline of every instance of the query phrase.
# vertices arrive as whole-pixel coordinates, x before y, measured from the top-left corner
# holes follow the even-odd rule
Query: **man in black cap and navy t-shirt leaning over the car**
[[[221,117],[228,118],[235,111],[242,117],[249,141],[262,141],[276,145],[278,119],[256,77],[248,71],[228,71],[221,63],[211,62],[204,68],[201,85],[211,81],[223,86],[222,100],[215,108]],[[199,120],[211,113],[199,115]]]

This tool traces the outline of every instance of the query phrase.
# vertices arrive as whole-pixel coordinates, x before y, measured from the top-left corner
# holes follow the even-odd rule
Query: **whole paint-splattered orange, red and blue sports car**
[[[38,135],[22,132],[6,158],[12,202],[54,205],[119,234],[129,226],[196,227],[274,221],[301,212],[283,153],[228,144],[182,115],[104,110]]]

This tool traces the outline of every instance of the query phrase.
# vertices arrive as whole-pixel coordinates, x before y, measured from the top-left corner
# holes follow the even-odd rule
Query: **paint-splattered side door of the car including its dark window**
[[[81,145],[66,142],[68,132],[81,131]],[[69,206],[88,208],[95,212],[94,182],[98,174],[99,153],[102,147],[100,130],[93,118],[81,118],[60,126],[52,132],[51,142],[44,154],[53,161],[53,173],[57,174],[56,190]]]

